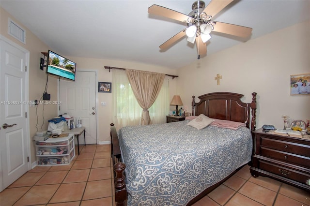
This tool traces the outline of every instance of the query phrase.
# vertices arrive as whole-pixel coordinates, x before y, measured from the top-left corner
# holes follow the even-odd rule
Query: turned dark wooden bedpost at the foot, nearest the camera
[[[113,166],[113,168],[114,172],[116,173],[114,182],[116,206],[125,206],[127,191],[123,172],[126,168],[126,165],[123,162],[118,162]]]

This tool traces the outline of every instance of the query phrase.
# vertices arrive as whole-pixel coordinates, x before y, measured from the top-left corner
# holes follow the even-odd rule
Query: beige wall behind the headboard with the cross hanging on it
[[[212,40],[212,39],[211,39]],[[212,44],[212,43],[211,43]],[[310,21],[278,30],[207,56],[178,70],[177,92],[187,108],[191,97],[217,91],[257,92],[257,128],[283,128],[281,116],[310,119],[310,95],[290,95],[290,75],[310,73]],[[196,54],[193,54],[196,55]],[[215,77],[222,75],[220,85]],[[195,80],[195,81],[192,81]]]

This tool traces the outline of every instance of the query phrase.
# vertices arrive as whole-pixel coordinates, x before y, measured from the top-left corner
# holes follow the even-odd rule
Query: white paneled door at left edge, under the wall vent
[[[0,191],[30,169],[28,111],[29,52],[1,37]],[[8,126],[5,126],[7,124]]]

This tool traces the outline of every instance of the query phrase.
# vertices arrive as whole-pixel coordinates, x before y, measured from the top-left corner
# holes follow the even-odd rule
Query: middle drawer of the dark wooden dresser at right
[[[310,166],[310,158],[300,155],[295,155],[288,152],[282,152],[266,147],[261,147],[261,155],[264,157],[274,158],[283,162],[290,162],[301,166]]]

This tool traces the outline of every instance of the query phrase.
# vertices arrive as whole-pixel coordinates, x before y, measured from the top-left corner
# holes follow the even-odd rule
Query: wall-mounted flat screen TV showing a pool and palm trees
[[[55,52],[48,50],[47,74],[52,74],[66,80],[75,81],[77,64]]]

